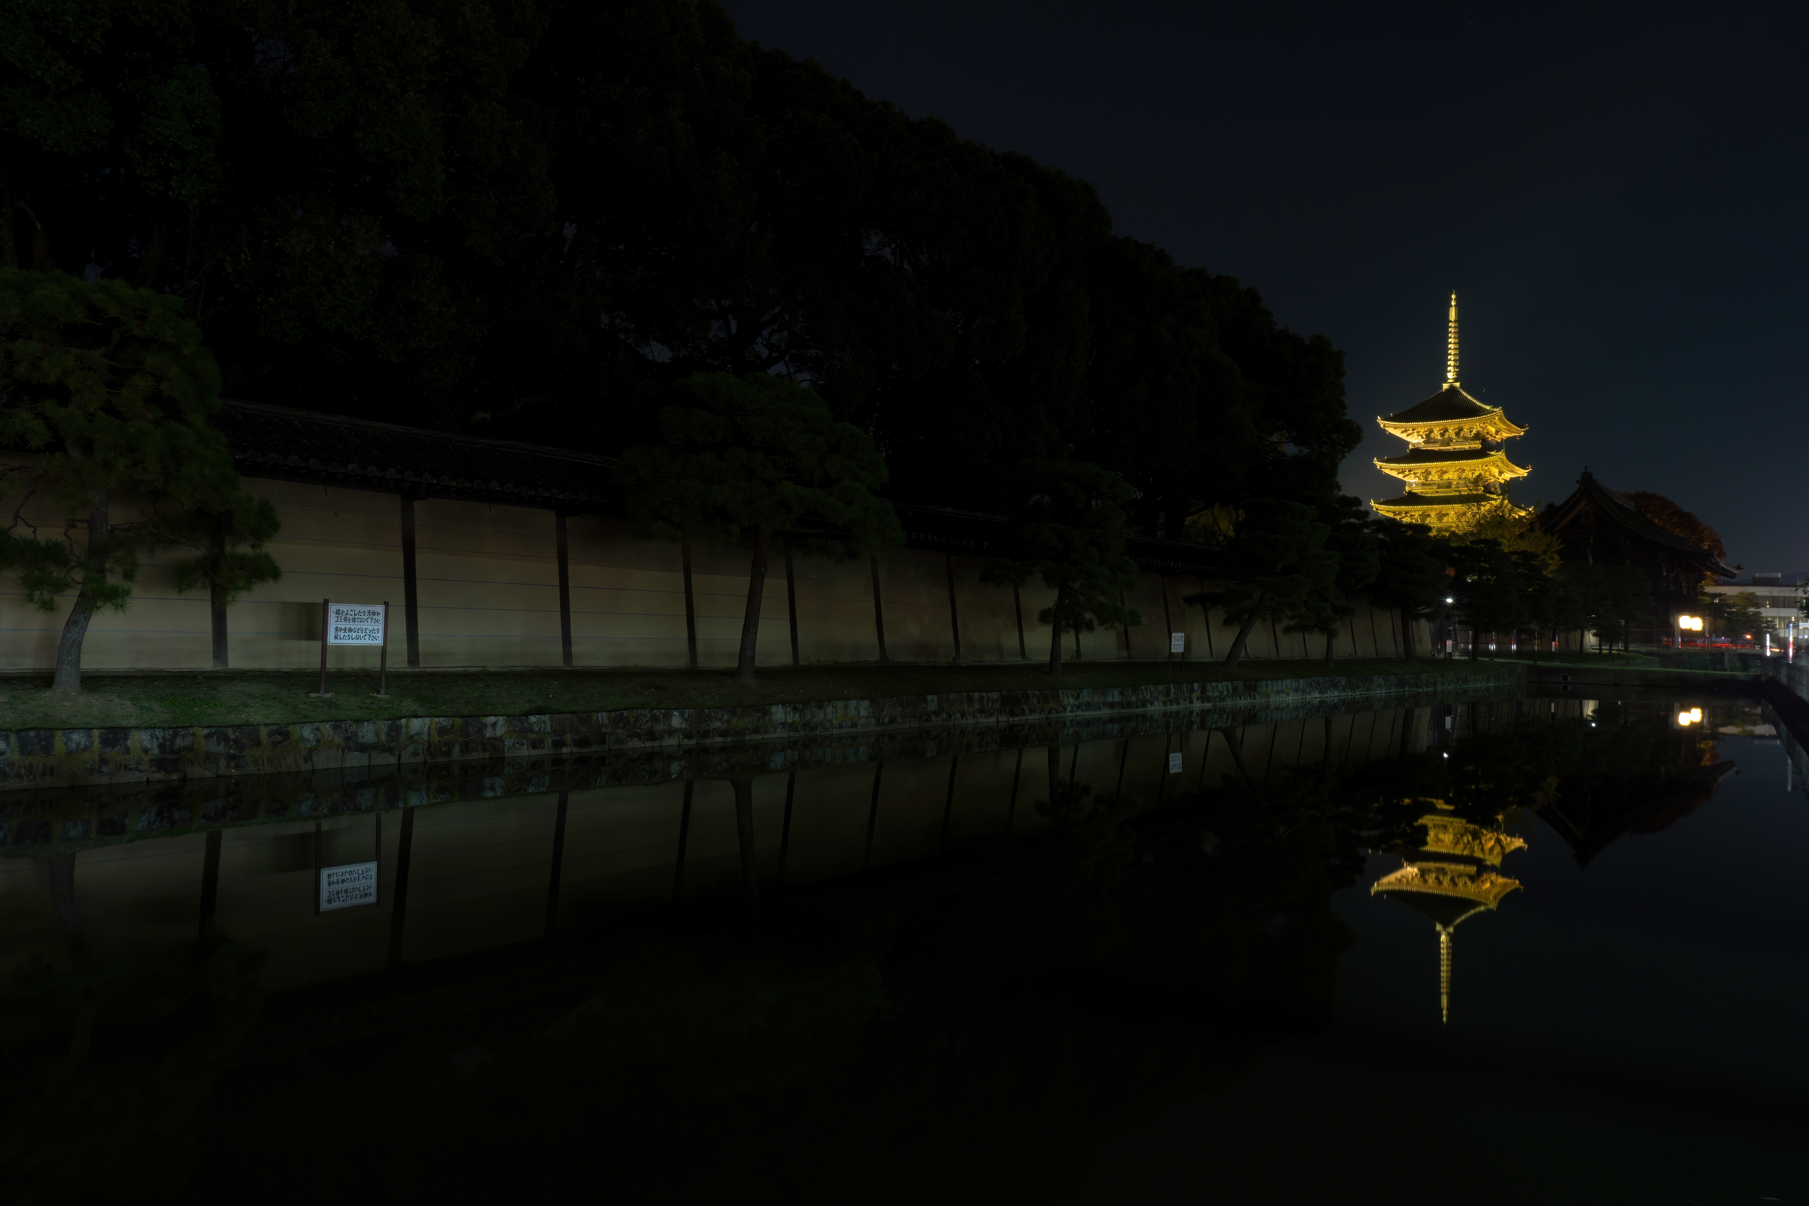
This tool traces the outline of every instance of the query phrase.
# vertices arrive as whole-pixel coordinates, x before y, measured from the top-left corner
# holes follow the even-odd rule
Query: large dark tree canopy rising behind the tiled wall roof
[[[894,497],[1006,461],[1131,530],[1317,504],[1342,354],[1113,235],[1093,186],[743,42],[707,0],[38,0],[0,43],[0,262],[181,300],[223,392],[597,452],[693,372],[809,385]]]

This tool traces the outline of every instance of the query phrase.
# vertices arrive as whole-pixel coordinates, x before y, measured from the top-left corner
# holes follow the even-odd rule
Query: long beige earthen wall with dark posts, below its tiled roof
[[[230,662],[241,669],[309,667],[320,660],[320,600],[389,602],[391,662],[402,665],[403,640],[403,501],[394,494],[340,486],[248,479],[271,499],[282,532],[270,551],[282,580],[239,600],[230,617]],[[128,504],[116,504],[130,519]],[[31,508],[27,506],[27,517]],[[36,517],[45,535],[62,521]],[[526,506],[421,499],[414,503],[416,582],[420,593],[420,658],[423,667],[561,665],[557,519]],[[637,541],[619,519],[573,515],[566,521],[573,665],[684,665],[686,582],[677,544]],[[179,553],[145,562],[132,604],[94,618],[83,647],[85,669],[206,669],[212,627],[206,591],[177,593]],[[747,551],[691,548],[691,602],[700,665],[733,665],[747,602]],[[1053,593],[1031,580],[1013,597],[1008,586],[980,580],[984,557],[930,550],[894,550],[876,570],[867,561],[792,559],[800,662],[1015,662],[1047,658],[1049,627],[1037,615]],[[25,604],[16,582],[0,591],[0,669],[49,669],[56,636],[69,611]],[[1212,584],[1194,577],[1145,573],[1125,604],[1138,627],[1064,636],[1064,656],[1165,658],[1169,633],[1187,635],[1190,660],[1223,658],[1234,629],[1219,615],[1187,606]],[[953,608],[950,597],[953,595]],[[1400,656],[1395,611],[1353,597],[1335,656]],[[1424,622],[1415,626],[1416,653],[1429,651]],[[1324,656],[1319,635],[1279,631],[1263,622],[1250,635],[1248,656]],[[329,665],[367,665],[367,649],[329,649]],[[760,651],[765,665],[789,664],[791,598],[785,557],[774,548],[762,602]]]

